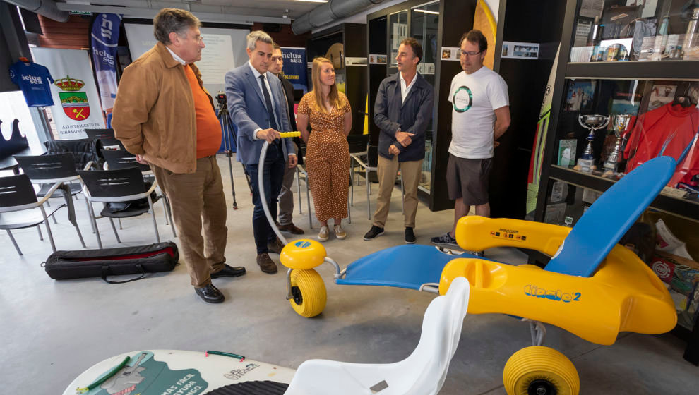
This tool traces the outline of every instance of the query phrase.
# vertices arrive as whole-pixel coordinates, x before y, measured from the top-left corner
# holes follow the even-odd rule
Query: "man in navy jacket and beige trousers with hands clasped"
[[[364,235],[371,240],[383,234],[388,217],[390,195],[395,176],[400,174],[405,191],[405,243],[415,243],[417,185],[422,176],[425,157],[425,129],[432,118],[432,85],[417,73],[422,60],[422,46],[409,37],[400,43],[398,73],[381,81],[374,104],[374,123],[381,128],[378,138],[378,199],[374,224]]]

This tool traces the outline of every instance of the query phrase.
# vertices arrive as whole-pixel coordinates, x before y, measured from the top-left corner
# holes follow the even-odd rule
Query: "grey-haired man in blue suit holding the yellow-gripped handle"
[[[285,166],[296,166],[297,157],[290,138],[280,139],[280,132],[292,131],[285,111],[286,98],[279,78],[268,73],[272,59],[272,37],[262,30],[247,36],[246,52],[250,61],[226,73],[228,111],[238,127],[236,157],[245,165],[253,188],[253,234],[257,247],[257,264],[263,272],[274,274],[277,265],[269,252],[280,253],[282,243],[265,217],[260,188],[272,217],[277,217],[277,196],[282,189]],[[269,142],[265,158],[263,185],[258,184],[262,145]]]

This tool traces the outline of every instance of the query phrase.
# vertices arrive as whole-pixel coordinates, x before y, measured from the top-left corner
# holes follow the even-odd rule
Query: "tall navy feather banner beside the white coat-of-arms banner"
[[[119,44],[121,16],[115,13],[99,13],[92,22],[90,46],[92,64],[95,66],[97,84],[100,87],[102,108],[108,113],[117,98],[117,45]]]

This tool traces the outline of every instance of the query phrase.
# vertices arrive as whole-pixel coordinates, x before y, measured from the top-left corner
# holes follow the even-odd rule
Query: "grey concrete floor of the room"
[[[228,164],[219,163],[225,192],[232,206]],[[357,363],[390,363],[407,357],[417,345],[422,315],[434,298],[398,288],[337,286],[332,270],[319,272],[328,288],[328,304],[318,317],[299,317],[285,300],[285,275],[264,274],[255,263],[251,236],[251,197],[239,164],[234,163],[239,209],[228,211],[227,257],[248,273],[237,279],[216,279],[225,303],[203,303],[189,286],[186,268],[154,274],[141,281],[109,285],[101,279],[54,281],[40,266],[51,253],[47,240],[35,229],[13,232],[25,255],[18,257],[0,233],[0,306],[4,324],[0,339],[0,381],[6,394],[59,394],[80,372],[110,356],[148,348],[221,350],[286,367],[304,360],[325,358]],[[304,183],[301,186],[305,188]],[[375,207],[377,186],[371,195]],[[354,191],[349,237],[330,238],[328,253],[342,267],[353,260],[402,243],[400,193],[396,189],[386,235],[363,241],[369,229],[364,184]],[[317,221],[309,231],[306,216],[294,212],[294,222],[316,236]],[[85,205],[80,197],[78,221],[88,248],[97,248]],[[54,200],[58,201],[58,200]],[[172,239],[157,206],[163,239]],[[446,231],[453,212],[430,212],[420,205],[417,242]],[[59,250],[80,248],[65,211],[51,224]],[[102,241],[116,246],[106,220],[100,220]],[[45,236],[45,231],[44,231]],[[124,220],[124,245],[155,241],[148,215]],[[179,239],[174,239],[179,242]],[[514,264],[525,262],[516,250],[494,249],[489,257]],[[273,255],[277,260],[277,255]],[[505,394],[502,369],[509,356],[530,346],[528,325],[504,315],[466,317],[441,394]],[[547,326],[546,345],[566,354],[580,372],[581,394],[696,394],[697,367],[682,359],[683,341],[665,334],[623,334],[613,346],[598,346],[553,326]]]

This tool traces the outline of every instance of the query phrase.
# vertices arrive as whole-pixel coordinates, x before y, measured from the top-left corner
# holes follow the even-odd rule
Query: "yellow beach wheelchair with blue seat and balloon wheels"
[[[263,154],[260,163],[263,163]],[[446,294],[456,277],[470,283],[469,314],[502,313],[530,322],[532,346],[506,363],[509,395],[578,394],[573,363],[542,346],[544,323],[596,344],[614,344],[619,332],[660,334],[677,320],[667,288],[631,250],[617,245],[674,173],[676,161],[657,157],[621,178],[587,209],[573,229],[515,219],[464,217],[456,239],[465,250],[519,247],[551,256],[544,269],[512,266],[428,245],[400,245],[352,262],[345,269],[321,243],[285,242],[287,300],[304,317],[325,308],[326,290],[314,267],[330,263],[335,284],[412,288]],[[262,171],[260,172],[262,174]],[[263,201],[265,201],[263,199]],[[271,217],[270,224],[276,229]]]

